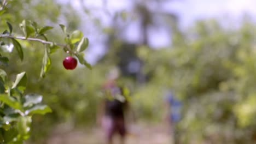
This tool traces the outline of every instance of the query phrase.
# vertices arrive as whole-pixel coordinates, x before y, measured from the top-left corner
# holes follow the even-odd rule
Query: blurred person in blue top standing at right
[[[177,122],[181,119],[181,107],[182,103],[180,100],[174,97],[173,93],[168,91],[165,94],[165,103],[166,103],[166,120],[168,124],[168,133],[171,136],[171,143],[176,144],[178,141],[175,139],[175,135],[177,135]]]

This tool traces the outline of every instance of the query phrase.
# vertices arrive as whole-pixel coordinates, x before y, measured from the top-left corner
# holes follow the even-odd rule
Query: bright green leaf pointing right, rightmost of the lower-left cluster
[[[34,115],[34,114],[44,115],[45,113],[49,113],[49,112],[53,112],[53,111],[47,105],[34,105],[33,107],[25,111],[25,115]]]

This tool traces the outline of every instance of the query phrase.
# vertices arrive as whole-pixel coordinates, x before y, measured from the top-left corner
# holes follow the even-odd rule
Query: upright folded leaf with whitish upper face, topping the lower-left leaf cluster
[[[12,89],[18,88],[23,93],[24,90],[26,89],[26,86],[27,86],[27,75],[26,75],[26,72],[24,71],[16,76],[16,80],[13,84],[13,87],[11,88]]]

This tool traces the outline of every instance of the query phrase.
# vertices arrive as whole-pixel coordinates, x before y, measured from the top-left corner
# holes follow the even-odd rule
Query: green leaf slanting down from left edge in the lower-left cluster
[[[13,107],[14,109],[22,110],[22,106],[19,101],[15,100],[13,97],[8,96],[7,94],[0,94],[0,101]]]

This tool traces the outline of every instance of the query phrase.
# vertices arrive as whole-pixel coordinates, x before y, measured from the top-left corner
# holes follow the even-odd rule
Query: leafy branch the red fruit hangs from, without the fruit
[[[68,33],[66,26],[60,25],[63,33],[65,33],[66,44],[59,44],[53,41],[49,41],[48,38],[46,37],[45,33],[53,29],[53,27],[51,26],[39,27],[36,22],[23,20],[20,23],[21,31],[24,34],[24,36],[22,37],[22,36],[14,36],[13,26],[11,26],[9,22],[7,22],[7,25],[8,25],[9,31],[5,30],[4,32],[2,32],[2,34],[0,34],[0,43],[1,43],[0,46],[8,47],[10,45],[9,41],[7,42],[9,44],[5,44],[2,39],[11,39],[11,41],[13,42],[12,44],[14,45],[15,50],[18,52],[18,55],[21,60],[23,60],[24,58],[24,53],[18,39],[27,40],[27,41],[37,41],[44,45],[44,56],[42,61],[42,70],[40,72],[40,78],[44,77],[45,73],[50,68],[50,65],[51,65],[50,54],[54,53],[60,47],[62,47],[62,49],[66,53],[68,53],[68,55],[77,57],[80,64],[83,64],[87,68],[91,69],[91,65],[88,62],[86,62],[86,60],[84,59],[84,52],[83,52],[88,47],[89,40],[88,38],[83,36],[83,33],[81,31],[75,30],[71,33]],[[43,37],[45,40],[40,39],[38,37]]]

